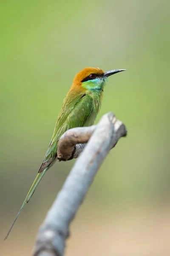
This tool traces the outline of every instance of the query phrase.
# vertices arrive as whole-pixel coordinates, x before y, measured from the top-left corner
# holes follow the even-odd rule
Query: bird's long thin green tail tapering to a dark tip
[[[45,172],[46,172],[47,170],[48,170],[48,167],[46,167],[46,168],[43,170],[43,172],[39,172],[39,173],[37,174],[37,177],[35,178],[35,180],[34,180],[32,186],[31,186],[31,189],[29,190],[29,192],[28,192],[28,194],[27,194],[27,196],[26,196],[26,199],[24,200],[24,202],[23,202],[23,204],[22,204],[22,206],[21,206],[21,208],[20,208],[20,210],[19,210],[19,212],[18,212],[16,218],[14,219],[14,221],[13,221],[13,223],[12,223],[10,229],[8,230],[8,233],[6,234],[6,237],[4,238],[4,240],[7,239],[8,235],[9,235],[9,233],[11,232],[11,229],[12,229],[12,227],[14,226],[15,221],[17,220],[18,216],[20,215],[20,212],[22,211],[24,205],[27,204],[28,201],[31,199],[31,196],[33,195],[35,189],[37,188],[38,184],[40,183],[40,180],[41,180],[42,177],[45,175]]]

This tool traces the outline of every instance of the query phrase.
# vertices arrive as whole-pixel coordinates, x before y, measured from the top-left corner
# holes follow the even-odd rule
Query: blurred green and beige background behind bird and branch
[[[8,228],[84,67],[109,78],[108,111],[128,136],[102,164],[71,224],[66,256],[170,255],[170,1],[3,1],[0,6],[0,254],[28,256],[74,160],[56,163]]]

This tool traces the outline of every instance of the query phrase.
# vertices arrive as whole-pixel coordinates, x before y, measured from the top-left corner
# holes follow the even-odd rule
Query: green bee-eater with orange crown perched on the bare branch
[[[7,239],[12,227],[20,215],[20,212],[24,205],[31,199],[35,189],[40,183],[40,180],[45,175],[45,172],[56,162],[59,138],[65,133],[65,131],[71,128],[90,126],[94,124],[101,107],[103,89],[108,77],[122,71],[125,71],[125,69],[104,72],[99,68],[86,67],[76,74],[70,90],[63,100],[51,142],[38,171],[37,177],[28,191],[26,199],[23,201],[23,204],[4,240]]]

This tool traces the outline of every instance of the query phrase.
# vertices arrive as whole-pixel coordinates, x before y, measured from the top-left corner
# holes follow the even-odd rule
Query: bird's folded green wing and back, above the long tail
[[[92,125],[94,120],[89,120],[90,122],[88,122],[88,119],[93,119],[90,118],[93,112],[93,99],[89,95],[81,95],[78,98],[72,96],[69,101],[67,97],[65,98],[39,172],[42,172],[49,166],[56,157],[57,145],[61,135],[74,127],[82,127],[87,124]]]

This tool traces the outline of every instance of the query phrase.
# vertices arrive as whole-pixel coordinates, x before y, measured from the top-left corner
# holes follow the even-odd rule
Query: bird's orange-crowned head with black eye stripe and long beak
[[[73,84],[82,87],[85,90],[102,90],[105,86],[108,76],[124,70],[111,70],[104,72],[102,69],[94,67],[85,67],[75,76]]]

